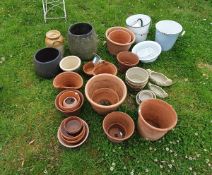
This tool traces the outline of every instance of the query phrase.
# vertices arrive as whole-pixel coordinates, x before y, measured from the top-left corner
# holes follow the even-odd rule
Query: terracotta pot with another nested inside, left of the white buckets
[[[123,32],[120,32],[120,31],[123,31]],[[112,32],[115,32],[115,33],[113,33],[112,35]],[[126,37],[125,33],[128,33],[131,36],[131,39],[129,42],[126,42],[127,39],[123,39]],[[118,36],[115,37],[114,36],[115,34],[117,34]],[[107,48],[111,55],[117,55],[119,52],[128,51],[131,45],[135,42],[135,34],[125,27],[111,27],[107,29],[105,35],[107,40]]]

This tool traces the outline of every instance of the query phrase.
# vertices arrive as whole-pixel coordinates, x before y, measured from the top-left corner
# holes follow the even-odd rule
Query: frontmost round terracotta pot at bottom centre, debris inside
[[[129,139],[135,130],[133,119],[126,113],[117,111],[109,113],[102,126],[108,139],[114,143]]]

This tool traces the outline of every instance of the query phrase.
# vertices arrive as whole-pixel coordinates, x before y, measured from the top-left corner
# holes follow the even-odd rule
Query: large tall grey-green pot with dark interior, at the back
[[[76,23],[69,27],[68,44],[72,55],[82,60],[90,60],[97,52],[97,43],[97,35],[92,25]]]

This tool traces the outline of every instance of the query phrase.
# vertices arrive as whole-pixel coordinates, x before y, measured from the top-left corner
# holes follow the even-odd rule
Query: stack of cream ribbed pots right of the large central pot
[[[126,84],[134,91],[143,89],[146,86],[148,79],[148,72],[140,67],[132,67],[128,69],[125,75]]]

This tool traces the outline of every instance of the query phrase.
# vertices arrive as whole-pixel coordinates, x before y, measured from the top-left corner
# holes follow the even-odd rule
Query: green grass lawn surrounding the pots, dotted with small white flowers
[[[66,5],[66,23],[45,24],[41,1],[0,2],[0,58],[5,58],[0,64],[0,174],[212,174],[211,2],[69,0]],[[52,80],[35,75],[34,53],[44,47],[48,30],[58,29],[66,37],[70,24],[85,21],[98,34],[98,54],[116,64],[103,44],[104,33],[111,26],[125,26],[125,19],[136,13],[152,17],[150,40],[154,40],[155,23],[162,19],[176,20],[186,30],[171,51],[163,52],[153,64],[139,65],[174,80],[165,90],[166,101],[178,113],[176,128],[160,141],[145,141],[135,132],[128,141],[113,144],[103,133],[103,117],[86,101],[80,117],[90,126],[89,139],[79,149],[63,148],[56,138],[64,119],[54,107],[58,92]],[[136,122],[134,95],[119,110]]]

